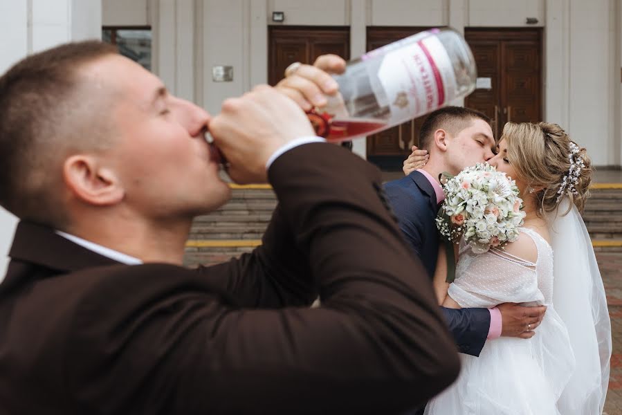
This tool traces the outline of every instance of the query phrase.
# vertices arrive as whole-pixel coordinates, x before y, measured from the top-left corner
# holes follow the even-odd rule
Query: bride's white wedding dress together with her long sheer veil
[[[597,415],[603,413],[612,352],[601,273],[585,223],[569,199],[547,216],[551,245],[532,264],[504,251],[475,255],[461,243],[449,295],[461,307],[546,304],[529,340],[487,341],[479,358],[461,354],[457,381],[426,407],[430,415]],[[554,255],[555,254],[555,255]]]

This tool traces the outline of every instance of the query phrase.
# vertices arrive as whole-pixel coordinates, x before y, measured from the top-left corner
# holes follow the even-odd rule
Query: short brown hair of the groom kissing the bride
[[[432,136],[437,129],[444,129],[455,136],[457,133],[468,127],[473,120],[484,120],[491,123],[491,119],[486,114],[465,107],[443,107],[430,113],[428,118],[421,124],[419,131],[419,148],[430,150]]]

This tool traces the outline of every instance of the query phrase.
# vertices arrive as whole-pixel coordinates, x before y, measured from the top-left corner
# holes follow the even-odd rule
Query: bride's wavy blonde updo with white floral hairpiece
[[[558,124],[508,122],[503,127],[507,159],[516,174],[536,190],[538,214],[552,212],[563,196],[583,212],[592,181],[592,161]]]

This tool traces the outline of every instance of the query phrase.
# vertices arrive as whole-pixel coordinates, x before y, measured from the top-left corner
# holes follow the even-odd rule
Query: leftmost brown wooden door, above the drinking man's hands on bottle
[[[289,64],[313,64],[327,53],[350,59],[349,26],[269,26],[268,83],[275,85],[282,80]]]

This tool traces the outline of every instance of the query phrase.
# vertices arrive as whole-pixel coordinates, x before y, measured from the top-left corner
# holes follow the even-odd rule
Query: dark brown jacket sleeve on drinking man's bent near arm
[[[309,258],[322,306],[240,308],[201,289],[208,274],[125,267],[75,313],[66,382],[85,409],[402,414],[455,379],[455,345],[377,169],[312,143],[277,158],[269,177],[284,241]]]

